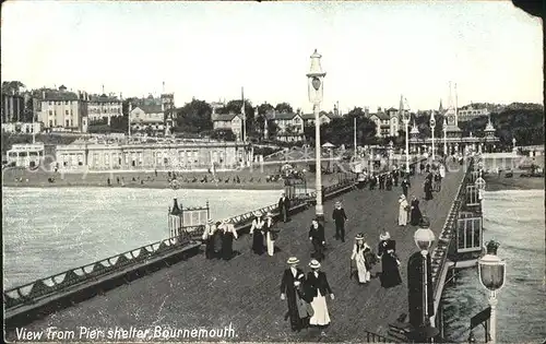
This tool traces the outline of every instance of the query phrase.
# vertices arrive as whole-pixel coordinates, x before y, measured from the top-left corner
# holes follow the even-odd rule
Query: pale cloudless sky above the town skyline
[[[543,103],[542,22],[509,1],[70,2],[2,4],[2,80],[176,106],[245,97],[310,111],[306,73],[322,55],[324,98],[342,111],[449,102]]]

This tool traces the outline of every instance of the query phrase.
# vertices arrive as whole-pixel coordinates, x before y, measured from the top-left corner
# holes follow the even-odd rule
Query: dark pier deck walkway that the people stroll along
[[[448,173],[440,192],[431,201],[422,201],[423,212],[430,217],[431,229],[438,236],[463,177],[463,170]],[[423,198],[423,176],[412,179],[410,197]],[[415,228],[397,226],[397,199],[401,188],[356,190],[325,203],[328,223],[327,258],[322,270],[328,274],[335,299],[328,299],[332,323],[327,335],[311,329],[293,333],[284,320],[286,301],[280,299],[280,283],[286,260],[296,256],[307,272],[311,251],[308,230],[314,209],[297,214],[287,224],[280,224],[274,257],[257,257],[250,251],[251,239],[242,236],[235,242],[241,252],[229,262],[209,261],[197,256],[163,269],[131,284],[120,286],[73,307],[60,310],[25,327],[29,331],[72,330],[79,327],[109,330],[224,328],[233,324],[240,341],[366,341],[366,330],[388,335],[388,325],[401,313],[407,313],[406,262],[417,249],[413,240]],[[342,200],[348,215],[346,241],[333,239],[330,221],[333,202]],[[354,236],[364,233],[367,242],[377,250],[381,229],[396,240],[402,261],[403,284],[384,289],[379,280],[360,286],[349,280],[349,257]],[[372,275],[381,270],[377,265]],[[10,333],[9,339],[15,333]],[[78,339],[78,337],[76,337]],[[182,339],[180,339],[182,340]],[[191,339],[190,339],[191,340]]]

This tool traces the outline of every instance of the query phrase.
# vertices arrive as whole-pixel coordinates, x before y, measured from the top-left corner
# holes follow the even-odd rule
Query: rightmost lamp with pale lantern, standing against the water
[[[490,336],[491,342],[497,342],[497,292],[502,288],[506,281],[506,262],[497,257],[499,244],[495,240],[487,242],[487,253],[478,260],[478,274],[482,285],[489,290]]]

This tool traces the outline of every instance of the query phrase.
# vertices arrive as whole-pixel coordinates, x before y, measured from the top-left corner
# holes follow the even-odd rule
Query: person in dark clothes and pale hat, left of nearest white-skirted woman
[[[312,308],[304,293],[305,274],[298,268],[299,260],[290,257],[286,263],[289,268],[284,271],[281,281],[281,299],[287,300],[292,331],[300,331],[307,327]]]

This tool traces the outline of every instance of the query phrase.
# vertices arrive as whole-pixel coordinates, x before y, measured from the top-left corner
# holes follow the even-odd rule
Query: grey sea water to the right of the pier
[[[484,241],[500,244],[507,262],[506,284],[497,293],[497,341],[543,343],[546,339],[544,190],[485,192]],[[477,269],[459,270],[442,296],[446,337],[466,342],[473,316],[488,307],[488,292]],[[474,330],[484,342],[482,327]]]

